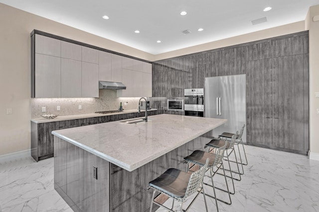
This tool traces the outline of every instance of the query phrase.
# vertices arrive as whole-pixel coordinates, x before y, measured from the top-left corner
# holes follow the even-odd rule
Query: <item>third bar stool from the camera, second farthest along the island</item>
[[[224,140],[213,139],[213,140],[209,141],[208,143],[206,143],[205,146],[204,146],[204,148],[209,147],[208,152],[211,152],[213,150],[221,148],[222,146],[224,146],[226,144],[226,149],[225,150],[226,150],[226,157],[227,157],[227,161],[228,161],[229,170],[228,169],[225,169],[225,170],[230,172],[230,176],[226,175],[226,177],[230,177],[231,178],[231,181],[232,181],[232,184],[233,184],[233,191],[234,191],[234,192],[230,192],[230,194],[235,194],[234,179],[238,180],[238,181],[241,180],[238,163],[236,163],[238,172],[235,172],[235,171],[231,170],[231,166],[230,166],[230,162],[229,162],[229,155],[233,152],[234,143],[236,141],[237,136],[238,136],[238,131],[236,132],[235,135],[232,136],[231,141],[226,141],[225,139]],[[228,150],[230,150],[229,153],[228,153]],[[234,154],[235,154],[235,158],[236,158],[236,161],[237,161],[237,156],[236,156],[236,152],[235,151],[234,151]],[[239,179],[234,178],[232,172],[237,173],[239,175]],[[219,174],[219,173],[217,173],[217,174]]]

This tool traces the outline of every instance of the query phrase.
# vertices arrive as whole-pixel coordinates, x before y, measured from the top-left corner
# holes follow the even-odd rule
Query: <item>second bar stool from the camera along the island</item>
[[[230,192],[229,192],[228,183],[227,183],[227,179],[226,179],[226,175],[225,175],[225,171],[224,171],[224,165],[223,165],[223,161],[222,161],[223,156],[224,156],[224,152],[225,152],[225,149],[226,149],[226,145],[227,145],[227,142],[225,142],[225,145],[223,145],[222,147],[216,149],[215,153],[209,153],[209,152],[202,151],[202,150],[195,150],[190,155],[188,155],[187,157],[184,157],[184,159],[185,159],[184,162],[185,163],[193,163],[194,164],[192,166],[190,166],[190,164],[188,164],[188,170],[187,171],[189,171],[195,165],[199,165],[200,167],[204,166],[205,165],[205,158],[209,158],[210,162],[208,163],[208,169],[210,170],[210,176],[206,176],[206,175],[205,176],[206,177],[210,177],[212,185],[209,185],[209,184],[206,184],[206,183],[204,183],[204,184],[213,187],[213,191],[214,191],[214,196],[215,197],[210,196],[208,194],[206,194],[206,196],[215,199],[217,212],[219,211],[218,210],[217,200],[222,202],[222,203],[225,203],[227,205],[231,205]],[[214,167],[217,168],[216,171],[213,171]],[[222,190],[222,189],[219,189],[219,190],[222,190],[222,191],[228,193],[229,202],[220,200],[220,199],[218,199],[216,197],[216,191],[215,191],[213,176],[217,173],[217,171],[219,170],[220,167],[222,167],[222,169],[224,171],[227,191],[226,190]],[[206,169],[206,171],[208,171],[208,169]]]

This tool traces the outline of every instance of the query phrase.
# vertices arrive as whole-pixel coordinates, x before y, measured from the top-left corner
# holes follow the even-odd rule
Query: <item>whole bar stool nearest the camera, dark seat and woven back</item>
[[[196,200],[196,198],[199,196],[199,194],[201,194],[201,192],[204,195],[206,212],[208,212],[204,185],[203,185],[203,177],[205,175],[205,171],[207,170],[208,163],[209,163],[209,158],[206,159],[206,162],[204,163],[201,169],[197,170],[196,172],[193,172],[192,174],[180,171],[175,168],[169,168],[158,178],[156,178],[155,180],[152,180],[149,183],[149,186],[147,188],[148,190],[154,189],[150,212],[152,212],[153,203],[155,203],[156,205],[170,212],[174,212],[172,211],[174,207],[174,200],[180,203],[180,212],[186,212],[191,207],[191,205]],[[187,209],[183,210],[182,209],[183,202],[185,202],[185,200],[190,195],[194,194],[198,189],[200,189],[198,191],[198,194],[192,200],[192,202],[187,207]],[[173,204],[171,209],[168,209],[167,207],[155,201],[155,199],[157,198],[155,197],[156,191],[160,192],[160,194],[157,197],[163,194],[173,199]]]

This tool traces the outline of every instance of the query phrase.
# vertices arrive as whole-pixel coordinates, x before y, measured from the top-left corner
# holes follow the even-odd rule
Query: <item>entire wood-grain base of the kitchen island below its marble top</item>
[[[183,158],[203,149],[211,135],[208,132],[132,172],[54,137],[54,188],[75,212],[149,211],[152,190],[147,190],[148,183],[168,168],[186,171]]]

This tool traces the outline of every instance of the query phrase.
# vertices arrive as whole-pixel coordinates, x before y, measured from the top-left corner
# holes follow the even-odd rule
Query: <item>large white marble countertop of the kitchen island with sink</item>
[[[224,124],[226,119],[160,114],[148,122],[123,120],[53,131],[52,134],[121,168],[133,171]]]

